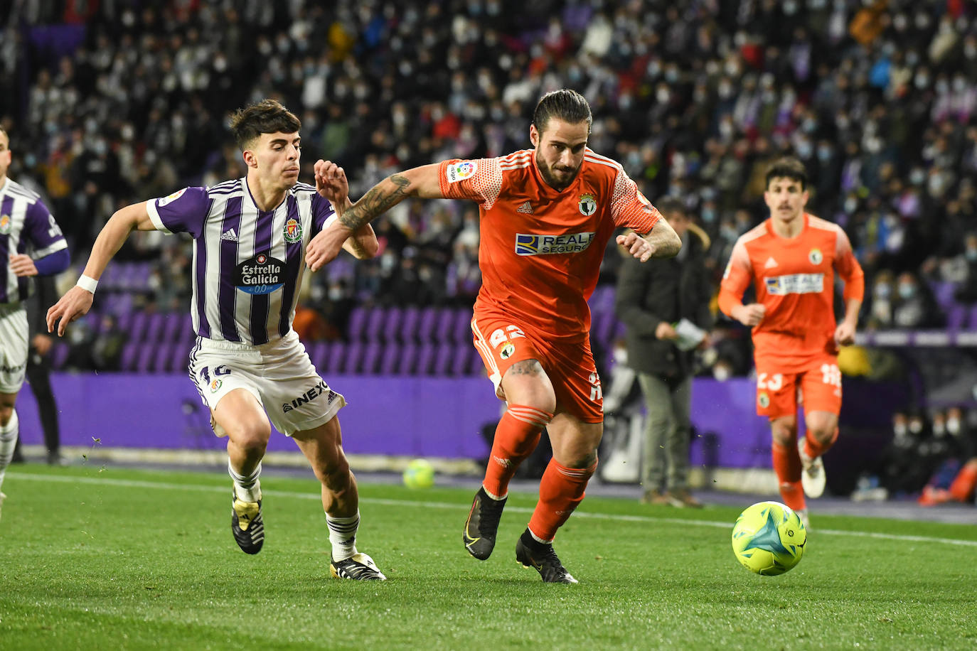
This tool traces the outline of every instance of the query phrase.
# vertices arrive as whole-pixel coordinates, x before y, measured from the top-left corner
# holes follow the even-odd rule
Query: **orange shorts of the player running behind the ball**
[[[771,360],[756,360],[756,413],[770,419],[794,416],[797,406],[804,411],[841,413],[841,371],[838,359],[823,355],[804,364],[798,371],[785,372]]]

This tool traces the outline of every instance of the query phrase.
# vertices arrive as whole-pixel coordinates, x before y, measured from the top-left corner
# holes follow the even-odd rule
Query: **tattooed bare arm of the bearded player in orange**
[[[407,197],[443,198],[445,195],[438,182],[438,166],[439,163],[432,163],[398,172],[367,190],[359,201],[342,212],[338,220],[323,228],[309,242],[306,249],[309,268],[318,271],[330,263],[339,255],[343,243],[350,236]]]

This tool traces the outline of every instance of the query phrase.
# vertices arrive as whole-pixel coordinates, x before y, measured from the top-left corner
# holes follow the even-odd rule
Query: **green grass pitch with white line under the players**
[[[977,527],[813,513],[800,564],[737,562],[739,509],[588,498],[557,550],[580,584],[515,561],[513,494],[487,561],[471,491],[361,485],[359,547],[390,579],[331,579],[319,486],[263,477],[265,548],[234,545],[226,475],[10,468],[0,649],[973,649]],[[743,505],[746,506],[746,505]]]

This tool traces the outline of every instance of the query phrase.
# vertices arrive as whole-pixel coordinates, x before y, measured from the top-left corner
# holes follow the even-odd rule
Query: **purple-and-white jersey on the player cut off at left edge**
[[[67,248],[61,228],[41,197],[7,179],[0,186],[0,304],[27,300],[30,285],[10,268],[10,256],[25,253],[39,260]]]

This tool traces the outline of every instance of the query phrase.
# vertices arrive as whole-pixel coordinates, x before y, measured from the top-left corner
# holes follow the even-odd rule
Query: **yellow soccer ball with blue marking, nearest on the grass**
[[[807,529],[797,513],[780,502],[747,507],[733,527],[733,553],[750,572],[784,574],[800,562]]]

